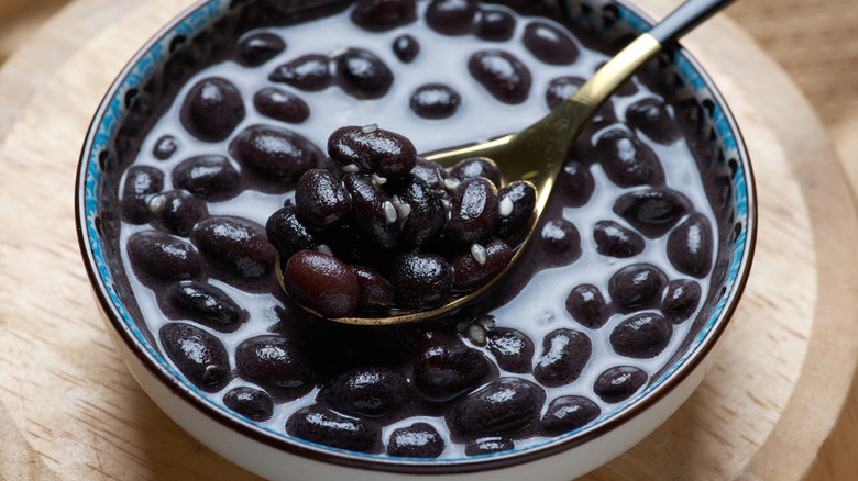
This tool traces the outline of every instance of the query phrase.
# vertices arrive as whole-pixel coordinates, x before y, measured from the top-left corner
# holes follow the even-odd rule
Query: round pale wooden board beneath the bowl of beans
[[[75,235],[74,181],[89,120],[125,60],[189,3],[75,0],[0,70],[3,479],[254,478],[185,434],[130,377]],[[676,2],[640,3],[661,18]],[[848,479],[850,471],[815,465],[831,459],[826,438],[855,425],[838,420],[858,366],[858,224],[848,182],[807,101],[744,31],[722,15],[684,44],[721,87],[748,144],[757,257],[700,389],[584,479]]]

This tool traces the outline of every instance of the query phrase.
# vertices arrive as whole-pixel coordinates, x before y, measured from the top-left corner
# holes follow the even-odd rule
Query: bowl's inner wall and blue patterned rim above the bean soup
[[[250,29],[271,24],[288,24],[296,12],[301,18],[315,18],[336,12],[350,2],[342,1],[210,1],[201,3],[174,21],[153,38],[120,74],[97,112],[84,146],[78,174],[77,221],[81,250],[102,309],[113,328],[139,357],[145,360],[163,382],[169,384],[188,402],[199,406],[220,423],[238,430],[264,436],[284,449],[300,445],[321,451],[320,446],[292,438],[232,414],[184,380],[165,358],[155,336],[141,322],[130,282],[122,268],[118,244],[120,228],[119,186],[122,171],[140,148],[138,137],[153,125],[163,98],[176,96],[182,85],[200,66],[222,58],[230,38]],[[649,22],[632,7],[623,2],[570,0],[560,2],[495,2],[531,14],[543,14],[561,23],[585,29],[600,42],[622,46],[631,35],[646,31]],[[744,287],[755,231],[754,190],[750,166],[738,128],[711,79],[688,53],[669,48],[657,61],[646,67],[666,96],[680,99],[683,111],[700,139],[696,148],[698,169],[705,193],[717,220],[717,254],[712,287],[705,293],[702,312],[693,321],[689,334],[675,355],[654,376],[647,388],[624,407],[603,416],[598,422],[528,448],[572,447],[597,436],[631,416],[679,382],[684,372],[710,351],[721,336]],[[397,462],[384,456],[340,454],[342,457]],[[517,451],[493,456],[515,457]],[[461,460],[468,462],[468,459]],[[433,461],[426,461],[431,463]],[[450,462],[446,460],[444,462]]]

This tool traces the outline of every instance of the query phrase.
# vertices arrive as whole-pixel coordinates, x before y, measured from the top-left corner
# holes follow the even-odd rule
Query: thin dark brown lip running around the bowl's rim
[[[724,334],[727,325],[729,324],[730,317],[734,315],[737,309],[738,300],[740,299],[746,288],[750,273],[754,251],[756,248],[756,186],[754,182],[754,174],[741,133],[724,98],[716,89],[711,77],[702,68],[702,66],[690,55],[688,51],[679,45],[675,45],[676,55],[688,61],[692,70],[696,72],[697,77],[703,81],[705,90],[707,90],[708,94],[712,96],[716,103],[716,108],[722,111],[723,120],[727,123],[729,132],[735,139],[737,157],[740,164],[739,167],[744,174],[743,178],[745,180],[744,184],[747,219],[745,220],[745,227],[743,232],[744,237],[739,235],[739,237],[734,240],[734,244],[741,244],[743,253],[738,261],[735,259],[736,256],[733,257],[734,261],[732,262],[732,267],[728,269],[735,269],[737,272],[733,282],[733,288],[726,292],[726,295],[724,295],[724,293],[719,295],[718,305],[721,305],[721,307],[715,307],[717,315],[711,315],[708,326],[702,329],[701,335],[697,335],[697,339],[695,339],[693,348],[690,349],[681,360],[676,361],[672,369],[663,373],[657,381],[651,382],[647,390],[628,400],[628,405],[619,409],[606,417],[600,418],[600,421],[597,421],[595,424],[585,426],[579,430],[560,436],[557,439],[538,446],[521,448],[519,450],[498,452],[495,455],[469,458],[448,460],[414,460],[407,458],[384,457],[380,455],[362,455],[331,448],[328,446],[315,445],[309,441],[289,437],[285,434],[277,434],[271,430],[265,430],[254,424],[251,424],[248,421],[243,421],[240,416],[228,412],[222,406],[218,406],[217,404],[212,403],[200,392],[190,389],[186,383],[176,379],[174,373],[167,370],[163,365],[163,359],[157,359],[157,356],[153,355],[141,343],[139,334],[134,332],[134,328],[122,321],[122,314],[119,312],[117,305],[108,295],[108,287],[99,275],[98,260],[90,244],[89,228],[86,225],[88,222],[86,212],[86,178],[88,174],[88,164],[90,161],[90,150],[92,148],[98,127],[103,121],[103,116],[109,107],[109,103],[117,96],[122,85],[122,80],[128,77],[138,63],[140,63],[140,60],[146,55],[146,53],[148,53],[150,49],[153,48],[153,46],[156,45],[165,34],[172,32],[177,25],[186,22],[195,12],[204,8],[206,3],[208,3],[207,0],[201,0],[195,3],[188,10],[169,22],[169,24],[161,29],[155,35],[153,35],[117,76],[110,89],[103,97],[98,111],[92,118],[86,142],[81,149],[80,163],[76,178],[77,194],[75,197],[75,221],[78,244],[85,260],[87,275],[89,276],[90,283],[92,284],[100,307],[107,314],[109,322],[117,329],[117,333],[120,335],[122,340],[131,348],[141,363],[147,370],[150,370],[150,372],[155,378],[157,378],[164,385],[166,385],[173,394],[179,396],[183,401],[194,405],[195,407],[198,407],[201,413],[210,417],[212,421],[216,421],[223,427],[234,429],[241,435],[265,444],[272,448],[280,449],[293,455],[307,457],[319,461],[332,462],[352,468],[417,474],[441,474],[455,472],[462,473],[473,472],[476,470],[501,469],[514,465],[527,463],[571,449],[594,438],[601,437],[626,424],[642,412],[652,407],[670,392],[672,392],[679,384],[681,384],[691,372],[695,371],[696,368],[700,367],[703,360],[714,348],[717,340]],[[647,14],[640,11],[640,9],[637,7],[629,4],[626,0],[614,0],[613,3],[618,4],[622,9],[625,9],[628,13],[630,13],[632,20],[640,21],[644,29],[653,24],[652,20]],[[96,230],[98,230],[98,227],[96,227]]]

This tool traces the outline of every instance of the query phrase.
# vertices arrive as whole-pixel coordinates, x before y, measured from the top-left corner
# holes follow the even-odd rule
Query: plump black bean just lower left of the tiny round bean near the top
[[[381,99],[393,85],[391,69],[370,51],[349,48],[334,61],[337,85],[356,99]]]

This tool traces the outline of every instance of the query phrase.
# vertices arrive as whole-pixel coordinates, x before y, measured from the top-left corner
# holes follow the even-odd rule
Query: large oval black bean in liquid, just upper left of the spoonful
[[[264,176],[297,180],[309,169],[320,167],[324,156],[300,134],[271,125],[253,125],[230,143],[230,154]]]

